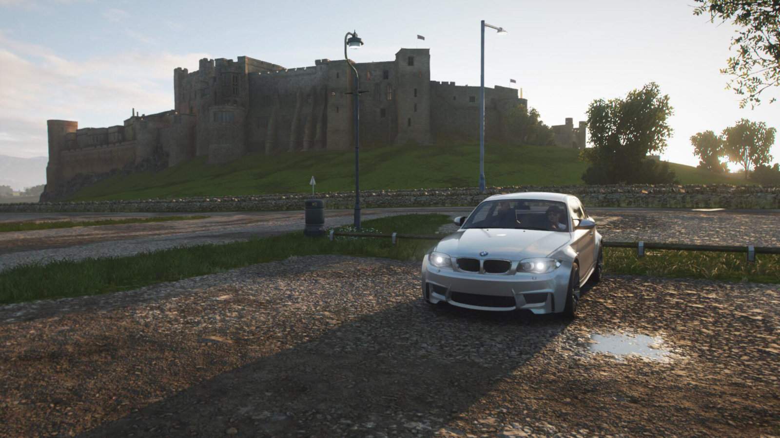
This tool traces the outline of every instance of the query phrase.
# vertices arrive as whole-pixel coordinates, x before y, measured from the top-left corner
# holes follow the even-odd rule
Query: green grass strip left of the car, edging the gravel
[[[363,226],[379,232],[434,234],[449,222],[444,214],[382,217],[363,221]],[[165,249],[128,257],[79,261],[56,261],[46,265],[13,267],[0,275],[0,304],[35,299],[97,295],[140,288],[162,281],[177,281],[199,275],[216,274],[237,267],[289,256],[346,254],[395,260],[422,260],[434,241],[389,238],[309,238],[303,232],[289,233],[249,242],[200,245]]]

